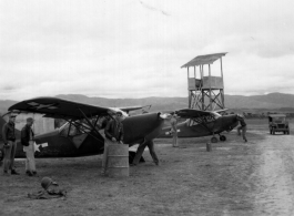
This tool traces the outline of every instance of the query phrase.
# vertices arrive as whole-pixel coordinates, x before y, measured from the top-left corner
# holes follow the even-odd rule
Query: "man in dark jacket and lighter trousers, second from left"
[[[28,117],[27,124],[21,130],[21,144],[23,145],[23,152],[26,152],[26,173],[29,176],[37,174],[36,163],[34,163],[34,142],[33,142],[33,131],[31,128],[33,124],[33,119]]]

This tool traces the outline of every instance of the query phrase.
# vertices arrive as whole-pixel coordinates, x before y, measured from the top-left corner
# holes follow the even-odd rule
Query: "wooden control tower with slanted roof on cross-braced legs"
[[[223,110],[224,106],[224,81],[222,56],[226,52],[199,55],[181,68],[187,69],[189,107],[202,111]],[[211,64],[220,60],[221,75],[211,75]],[[190,74],[190,68],[193,73]],[[205,68],[205,70],[204,70]],[[209,74],[206,74],[209,72]]]

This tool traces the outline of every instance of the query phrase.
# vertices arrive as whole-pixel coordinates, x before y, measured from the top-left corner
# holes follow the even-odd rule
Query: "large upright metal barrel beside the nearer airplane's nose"
[[[110,144],[108,157],[110,177],[129,176],[129,145]]]

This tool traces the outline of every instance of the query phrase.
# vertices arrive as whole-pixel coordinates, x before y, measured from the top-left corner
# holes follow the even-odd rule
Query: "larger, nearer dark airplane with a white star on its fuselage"
[[[104,138],[101,135],[100,127],[105,122],[104,120],[111,119],[116,111],[122,111],[124,115],[125,144],[129,144],[129,146],[143,143],[153,145],[153,140],[160,134],[166,115],[158,112],[129,116],[128,113],[130,111],[145,106],[129,106],[120,110],[118,107],[102,107],[57,97],[37,97],[19,102],[8,110],[14,113],[44,114],[43,117],[62,119],[67,122],[52,132],[34,136],[34,155],[38,158],[102,154]],[[99,122],[101,124],[98,124]],[[4,123],[4,120],[0,119],[1,128]],[[20,131],[16,130],[16,157],[26,157],[20,143]],[[134,157],[134,154],[130,154],[130,157]],[[1,150],[0,157],[3,157],[3,151]],[[141,158],[141,161],[144,160]]]

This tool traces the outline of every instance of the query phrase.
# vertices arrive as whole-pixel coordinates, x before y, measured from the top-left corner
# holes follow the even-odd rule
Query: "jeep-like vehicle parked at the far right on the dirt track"
[[[273,135],[275,134],[275,132],[283,132],[284,134],[290,134],[288,122],[286,121],[285,114],[270,114],[268,127],[270,133]]]

